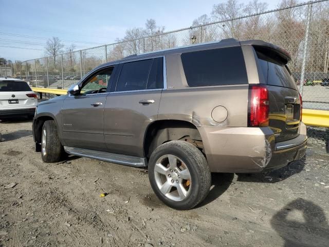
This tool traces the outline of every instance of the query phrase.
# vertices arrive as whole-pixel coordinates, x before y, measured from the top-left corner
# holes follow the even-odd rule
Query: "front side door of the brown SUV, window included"
[[[106,151],[103,114],[113,68],[88,76],[81,83],[81,93],[64,100],[62,131],[66,146]]]

